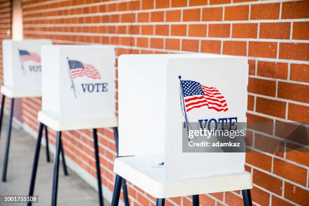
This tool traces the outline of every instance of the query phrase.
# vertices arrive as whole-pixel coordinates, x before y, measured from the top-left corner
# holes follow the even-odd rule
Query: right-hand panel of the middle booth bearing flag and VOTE
[[[60,117],[115,117],[115,50],[107,46],[60,47]]]

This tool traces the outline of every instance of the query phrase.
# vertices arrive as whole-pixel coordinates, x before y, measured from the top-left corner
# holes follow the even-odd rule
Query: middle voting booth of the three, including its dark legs
[[[52,205],[57,205],[62,131],[92,129],[99,205],[103,205],[97,128],[113,127],[116,116],[115,47],[103,45],[46,45],[42,47],[42,110],[38,113],[39,150],[42,127],[57,133]],[[117,143],[116,143],[117,144]],[[63,154],[63,152],[62,152]],[[29,195],[33,195],[39,152],[35,153]],[[64,156],[62,156],[64,160]],[[122,183],[127,191],[125,181]],[[128,200],[126,193],[125,199]],[[29,204],[28,204],[29,205]]]

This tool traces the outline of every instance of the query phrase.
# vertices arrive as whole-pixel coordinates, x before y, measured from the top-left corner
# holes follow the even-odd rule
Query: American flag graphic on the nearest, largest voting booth
[[[218,112],[228,111],[226,100],[217,88],[203,86],[195,81],[180,82],[186,112],[205,106]]]

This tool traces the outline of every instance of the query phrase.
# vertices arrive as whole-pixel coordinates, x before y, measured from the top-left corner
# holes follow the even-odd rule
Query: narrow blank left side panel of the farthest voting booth
[[[13,55],[12,40],[5,39],[2,41],[3,48],[3,84],[6,87],[13,88]]]

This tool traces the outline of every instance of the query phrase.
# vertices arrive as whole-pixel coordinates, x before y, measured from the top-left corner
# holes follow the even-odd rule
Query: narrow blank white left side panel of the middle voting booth
[[[55,45],[42,47],[42,110],[59,114],[60,73],[59,49]]]

